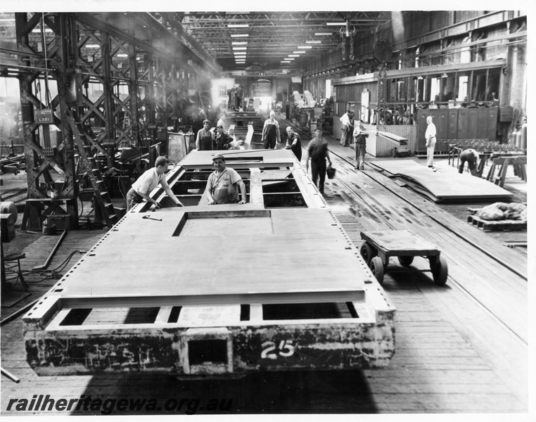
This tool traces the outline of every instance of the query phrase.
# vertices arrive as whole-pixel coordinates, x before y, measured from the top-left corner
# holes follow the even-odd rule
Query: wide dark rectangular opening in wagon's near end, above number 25
[[[285,319],[358,318],[352,302],[281,303],[262,305],[264,321]]]

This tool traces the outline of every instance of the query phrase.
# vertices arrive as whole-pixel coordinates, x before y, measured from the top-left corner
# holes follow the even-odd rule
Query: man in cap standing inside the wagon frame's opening
[[[222,154],[212,157],[212,164],[215,171],[208,177],[205,188],[208,205],[236,203],[239,198],[238,188],[242,195],[242,200],[238,203],[245,204],[245,184],[240,174],[225,167],[225,157]]]

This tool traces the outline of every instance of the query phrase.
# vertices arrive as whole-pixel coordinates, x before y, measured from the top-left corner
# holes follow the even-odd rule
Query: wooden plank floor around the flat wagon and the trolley
[[[355,172],[347,162],[351,148],[335,141],[330,148],[339,155],[333,157],[338,178],[326,182],[326,200],[356,245],[361,230],[409,229],[437,244],[449,262],[445,287],[435,286],[430,273],[408,271],[394,263],[390,267],[400,271],[388,271],[384,283],[397,307],[396,352],[388,368],[258,373],[242,380],[210,382],[128,373],[39,378],[25,362],[19,318],[1,328],[2,367],[21,378],[18,384],[1,378],[1,413],[23,414],[6,412],[9,399],[39,394],[66,399],[155,397],[159,405],[170,398],[232,399],[230,409],[222,413],[246,414],[527,412],[526,255],[373,170]],[[89,248],[103,233],[70,232],[51,267],[71,250]],[[25,266],[42,264],[53,243],[55,239],[42,237],[30,245]],[[427,264],[417,258],[414,267],[426,269]],[[32,298],[44,293],[47,283],[52,285],[51,281],[32,285]],[[2,317],[13,308],[3,307]],[[129,413],[140,414],[117,414]],[[198,409],[198,413],[211,412]]]

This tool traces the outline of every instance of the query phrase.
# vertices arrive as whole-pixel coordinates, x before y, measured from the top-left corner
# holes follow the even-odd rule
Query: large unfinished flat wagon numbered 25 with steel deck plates
[[[291,151],[224,153],[245,205],[203,195],[193,151],[23,317],[39,375],[381,367],[395,307]],[[150,215],[152,219],[143,218]]]

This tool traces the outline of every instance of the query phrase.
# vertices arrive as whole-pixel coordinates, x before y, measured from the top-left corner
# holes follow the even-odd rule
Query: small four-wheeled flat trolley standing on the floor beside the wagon
[[[378,282],[383,283],[389,257],[398,257],[398,262],[409,267],[414,257],[425,257],[430,262],[433,281],[438,286],[447,283],[447,260],[432,243],[408,230],[362,231],[361,256],[371,268]]]

